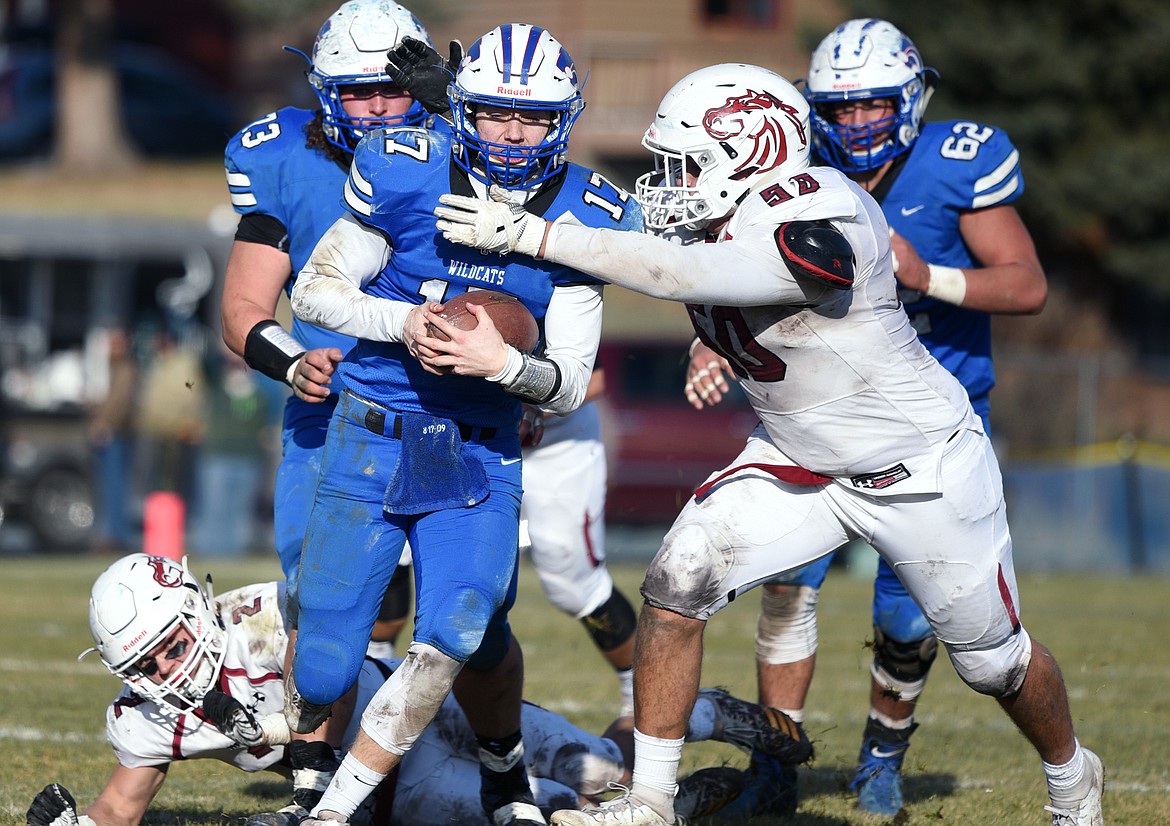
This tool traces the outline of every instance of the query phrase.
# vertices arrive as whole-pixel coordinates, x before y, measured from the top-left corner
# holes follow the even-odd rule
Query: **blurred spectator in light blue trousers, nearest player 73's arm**
[[[283,399],[274,400],[256,376],[225,346],[208,364],[192,534],[200,553],[238,556],[261,544],[256,515]]]

